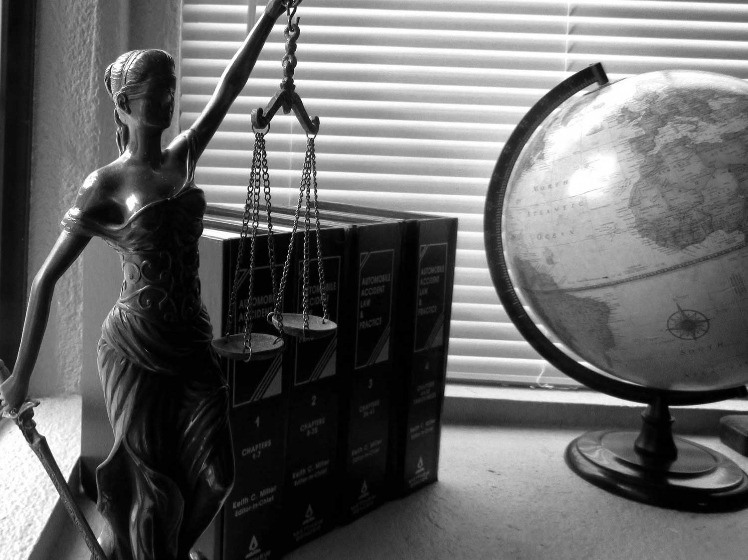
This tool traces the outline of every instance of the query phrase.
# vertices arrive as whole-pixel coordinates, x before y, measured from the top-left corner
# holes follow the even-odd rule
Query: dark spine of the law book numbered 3
[[[400,248],[395,223],[361,224],[346,231],[349,262],[339,330],[346,402],[340,430],[344,522],[378,507],[386,496]]]

